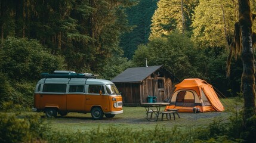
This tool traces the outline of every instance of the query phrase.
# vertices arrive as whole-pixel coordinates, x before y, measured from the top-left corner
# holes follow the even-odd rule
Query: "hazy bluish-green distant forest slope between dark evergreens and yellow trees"
[[[124,50],[124,56],[128,59],[132,58],[138,45],[148,42],[151,18],[156,10],[156,2],[157,0],[141,0],[134,7],[126,10],[129,26],[133,29],[122,35],[120,45]]]

